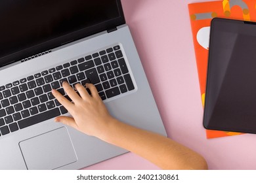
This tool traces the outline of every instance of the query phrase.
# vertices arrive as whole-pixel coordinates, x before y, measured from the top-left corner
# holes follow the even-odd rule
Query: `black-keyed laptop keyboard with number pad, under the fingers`
[[[120,46],[106,48],[0,86],[0,136],[66,114],[51,93],[56,89],[71,101],[62,88],[64,81],[73,88],[77,83],[95,84],[103,101],[135,89]]]

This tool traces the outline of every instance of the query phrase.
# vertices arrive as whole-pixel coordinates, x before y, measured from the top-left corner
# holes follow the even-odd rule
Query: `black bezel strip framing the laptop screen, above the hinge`
[[[72,33],[69,33],[61,37],[56,37],[54,39],[51,39],[50,41],[41,42],[40,44],[25,48],[18,52],[14,52],[12,54],[9,54],[8,56],[3,56],[2,58],[0,58],[0,67],[9,65],[16,61],[20,61],[21,59],[24,59],[24,58],[29,58],[31,56],[40,54],[42,52],[46,52],[47,50],[52,50],[54,48],[63,46],[64,44],[68,44],[73,41],[77,41],[84,37],[88,37],[90,35],[94,35],[102,31],[110,30],[110,29],[113,29],[114,27],[125,24],[125,16],[123,14],[121,0],[116,0],[116,4],[119,10],[119,17],[116,17],[112,20],[108,20],[105,22],[101,22],[100,24],[86,27],[84,29],[80,29],[79,31],[74,31]]]

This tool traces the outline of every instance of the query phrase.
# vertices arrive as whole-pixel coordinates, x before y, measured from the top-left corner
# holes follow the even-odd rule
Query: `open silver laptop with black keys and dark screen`
[[[0,2],[0,169],[81,169],[127,150],[55,123],[51,94],[95,84],[110,114],[165,135],[119,0]],[[118,137],[117,137],[118,138]]]

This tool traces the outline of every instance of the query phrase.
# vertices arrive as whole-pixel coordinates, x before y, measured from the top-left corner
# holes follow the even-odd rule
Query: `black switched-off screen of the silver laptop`
[[[58,41],[32,49],[33,52],[27,50],[24,56],[96,33],[96,29],[90,27],[101,24],[100,28],[106,29],[108,25],[104,23],[121,14],[117,0],[1,0],[0,66],[14,61],[14,58],[4,59],[10,54],[22,51],[23,54],[18,55],[23,56],[24,50],[43,42],[58,38]],[[77,33],[71,35],[75,31]],[[64,35],[66,39],[60,39]]]

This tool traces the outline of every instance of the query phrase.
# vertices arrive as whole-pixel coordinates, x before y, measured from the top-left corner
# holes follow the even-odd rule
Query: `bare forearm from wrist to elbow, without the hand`
[[[167,137],[117,120],[109,122],[107,128],[100,139],[138,154],[161,169],[207,169],[202,156]]]

